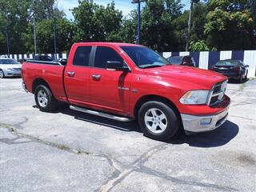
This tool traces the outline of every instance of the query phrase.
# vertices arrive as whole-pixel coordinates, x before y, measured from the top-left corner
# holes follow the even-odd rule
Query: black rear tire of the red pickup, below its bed
[[[47,98],[47,102],[44,102],[44,104],[46,103],[45,106],[42,105],[41,100],[38,101],[38,99],[40,98],[40,96],[38,98],[38,94],[42,93],[45,93]],[[54,95],[51,93],[50,89],[44,85],[37,86],[36,90],[34,91],[34,100],[37,103],[39,110],[44,112],[54,110],[58,103],[58,101],[54,98]]]

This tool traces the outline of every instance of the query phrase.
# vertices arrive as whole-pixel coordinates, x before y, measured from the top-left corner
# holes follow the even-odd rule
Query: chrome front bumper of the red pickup
[[[190,114],[181,114],[182,123],[186,132],[205,132],[218,128],[224,122],[228,116],[228,108],[222,111],[220,114],[207,115],[207,116],[196,116]]]

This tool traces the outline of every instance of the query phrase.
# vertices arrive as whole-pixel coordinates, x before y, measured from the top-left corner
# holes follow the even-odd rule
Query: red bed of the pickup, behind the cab
[[[64,71],[65,66],[61,62],[28,60],[22,64],[22,78],[29,92],[34,93],[34,85],[43,80],[48,84],[55,98],[66,102]]]

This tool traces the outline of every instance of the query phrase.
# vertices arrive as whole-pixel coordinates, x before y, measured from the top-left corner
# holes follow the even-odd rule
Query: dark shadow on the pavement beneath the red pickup
[[[55,110],[53,113],[68,114],[70,116],[73,116],[75,119],[85,122],[91,122],[101,126],[108,126],[116,130],[122,130],[126,132],[136,131],[138,133],[142,133],[142,130],[139,128],[138,122],[136,121],[118,122],[108,118],[98,117],[96,115],[84,114],[79,111],[70,110],[67,104],[62,104],[58,107],[58,110]],[[226,143],[230,142],[230,140],[232,140],[238,134],[238,131],[238,125],[234,124],[234,122],[226,121],[216,130],[193,135],[180,134],[177,138],[174,139],[174,141],[170,141],[167,143],[173,145],[187,143],[189,146],[195,147],[223,146]]]

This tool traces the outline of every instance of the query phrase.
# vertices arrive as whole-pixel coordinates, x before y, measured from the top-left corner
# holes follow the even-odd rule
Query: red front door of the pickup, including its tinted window
[[[98,109],[126,114],[132,73],[106,69],[108,61],[124,62],[117,51],[110,46],[97,46],[94,67],[90,70],[90,102]]]

